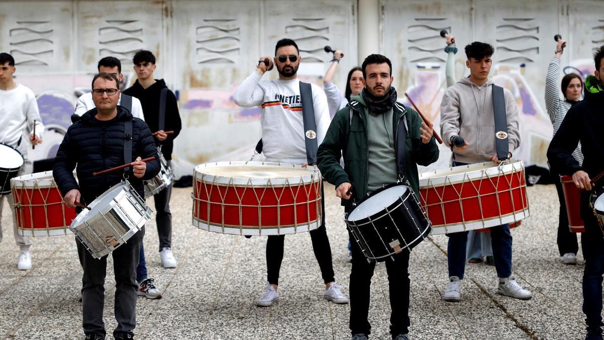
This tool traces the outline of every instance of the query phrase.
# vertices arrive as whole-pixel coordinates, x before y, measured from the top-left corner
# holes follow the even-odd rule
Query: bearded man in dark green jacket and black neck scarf
[[[323,178],[336,186],[344,211],[352,203],[399,178],[418,192],[417,164],[429,165],[439,158],[432,125],[422,122],[416,111],[396,102],[391,87],[392,64],[381,54],[371,54],[362,64],[365,88],[339,110],[318,150]],[[344,157],[344,169],[339,164]],[[399,169],[404,169],[401,173]],[[354,183],[354,186],[352,185]],[[352,199],[351,199],[352,198]],[[403,226],[404,227],[404,226]],[[371,325],[369,286],[375,263],[368,263],[349,231],[352,244],[350,273],[350,330],[353,340],[368,339]],[[386,260],[390,287],[390,333],[393,339],[408,339],[409,252]]]

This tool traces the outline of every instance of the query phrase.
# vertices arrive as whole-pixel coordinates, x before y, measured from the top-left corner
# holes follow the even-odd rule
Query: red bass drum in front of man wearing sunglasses
[[[287,163],[195,167],[193,225],[235,235],[283,235],[321,225],[321,173]]]

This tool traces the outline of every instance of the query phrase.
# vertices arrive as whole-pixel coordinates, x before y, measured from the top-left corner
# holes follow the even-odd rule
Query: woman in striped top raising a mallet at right
[[[545,106],[547,113],[550,116],[552,125],[554,126],[554,134],[558,131],[562,120],[566,116],[568,109],[581,100],[583,92],[583,81],[579,74],[569,73],[562,77],[561,85],[558,85],[560,74],[560,57],[566,47],[566,41],[559,39],[556,45],[556,54],[551,60],[550,66],[547,68],[547,76],[545,77]],[[561,87],[559,87],[561,86]],[[564,99],[560,98],[560,91],[564,95]],[[583,154],[581,153],[581,144],[573,152],[574,159],[580,164],[583,163]],[[558,174],[553,174],[558,175]],[[558,200],[560,201],[560,214],[558,219],[558,235],[557,244],[558,251],[562,257],[562,262],[565,264],[577,264],[577,235],[571,232],[568,228],[568,215],[566,203],[564,201],[564,192],[562,192],[562,183],[555,181],[556,190],[558,192]]]

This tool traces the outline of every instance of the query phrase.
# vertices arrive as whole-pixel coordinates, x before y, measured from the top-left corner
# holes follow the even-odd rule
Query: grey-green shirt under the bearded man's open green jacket
[[[367,115],[369,143],[367,189],[369,192],[397,180],[392,115],[392,109],[384,114],[369,112]]]

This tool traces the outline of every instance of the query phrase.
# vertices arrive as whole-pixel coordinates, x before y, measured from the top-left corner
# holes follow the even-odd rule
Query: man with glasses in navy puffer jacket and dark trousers
[[[143,120],[133,118],[130,111],[117,102],[120,98],[120,84],[113,74],[99,73],[92,79],[92,93],[95,108],[83,114],[81,119],[69,126],[63,142],[57,151],[53,177],[67,206],[74,208],[76,202],[92,203],[114,185],[120,183],[124,175],[137,193],[144,197],[143,180],[150,180],[159,172],[159,160],[149,127]],[[125,122],[132,120],[132,136],[126,136]],[[133,166],[124,171],[92,175],[100,171],[124,164],[124,141],[132,138]],[[155,157],[145,163],[142,158]],[[76,167],[77,166],[77,167]],[[79,185],[74,178],[76,168]],[[82,208],[77,208],[80,212]],[[117,328],[115,339],[132,339],[136,326],[135,309],[137,289],[135,281],[138,255],[143,240],[144,227],[134,234],[127,243],[114,250],[115,273],[115,319]],[[97,260],[76,238],[82,276],[82,316],[86,339],[104,339],[103,323],[104,279],[107,256]]]

